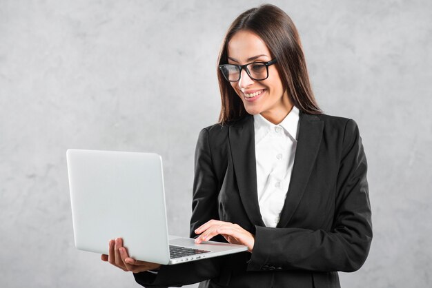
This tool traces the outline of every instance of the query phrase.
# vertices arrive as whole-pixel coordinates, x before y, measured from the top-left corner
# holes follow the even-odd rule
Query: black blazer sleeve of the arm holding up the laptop
[[[208,131],[200,133],[195,150],[195,178],[193,184],[193,216],[190,220],[190,236],[206,221],[217,219],[217,177],[215,176]],[[144,287],[180,287],[216,278],[224,257],[209,258],[190,263],[164,265],[157,274],[141,272],[134,274],[135,280]]]

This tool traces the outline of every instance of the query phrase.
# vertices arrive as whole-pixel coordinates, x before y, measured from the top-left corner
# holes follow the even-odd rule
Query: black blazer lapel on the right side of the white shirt
[[[324,123],[318,116],[300,112],[300,130],[293,172],[277,227],[286,227],[302,199],[320,148],[323,127]]]

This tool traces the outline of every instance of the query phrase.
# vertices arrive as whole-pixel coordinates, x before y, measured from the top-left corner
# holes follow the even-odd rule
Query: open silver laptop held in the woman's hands
[[[168,236],[158,154],[70,149],[66,158],[77,249],[108,254],[108,241],[119,237],[130,257],[162,265],[247,251]]]

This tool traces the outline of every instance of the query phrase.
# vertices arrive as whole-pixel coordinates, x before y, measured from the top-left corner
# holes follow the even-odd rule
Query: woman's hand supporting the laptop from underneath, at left
[[[132,271],[133,273],[144,272],[148,270],[157,270],[161,267],[160,264],[150,263],[145,261],[135,260],[128,256],[128,251],[123,247],[123,240],[117,238],[110,240],[109,255],[102,254],[101,260],[109,262],[115,267],[119,267],[124,271]]]

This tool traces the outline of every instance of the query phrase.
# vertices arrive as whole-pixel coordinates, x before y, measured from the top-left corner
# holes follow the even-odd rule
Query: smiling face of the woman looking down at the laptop
[[[244,65],[271,60],[267,45],[253,32],[241,30],[228,42],[230,64]],[[230,84],[242,99],[249,114],[262,114],[268,121],[278,124],[291,111],[293,105],[288,99],[275,65],[277,63],[268,67],[268,78],[265,80],[255,81],[242,70],[240,80]]]

